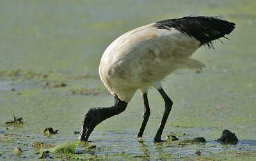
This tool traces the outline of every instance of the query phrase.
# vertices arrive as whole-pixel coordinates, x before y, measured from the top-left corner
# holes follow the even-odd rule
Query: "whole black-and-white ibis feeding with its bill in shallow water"
[[[144,109],[138,138],[142,138],[149,115],[147,92],[156,88],[165,102],[164,115],[154,142],[162,142],[161,135],[172,100],[161,87],[161,80],[177,69],[202,70],[205,65],[192,59],[200,46],[214,48],[212,41],[226,38],[235,24],[217,17],[183,17],[162,20],[126,32],[106,48],[99,66],[100,78],[115,97],[108,108],[90,108],[83,118],[81,141],[88,141],[93,129],[103,120],[125,111],[136,90],[143,95]]]

